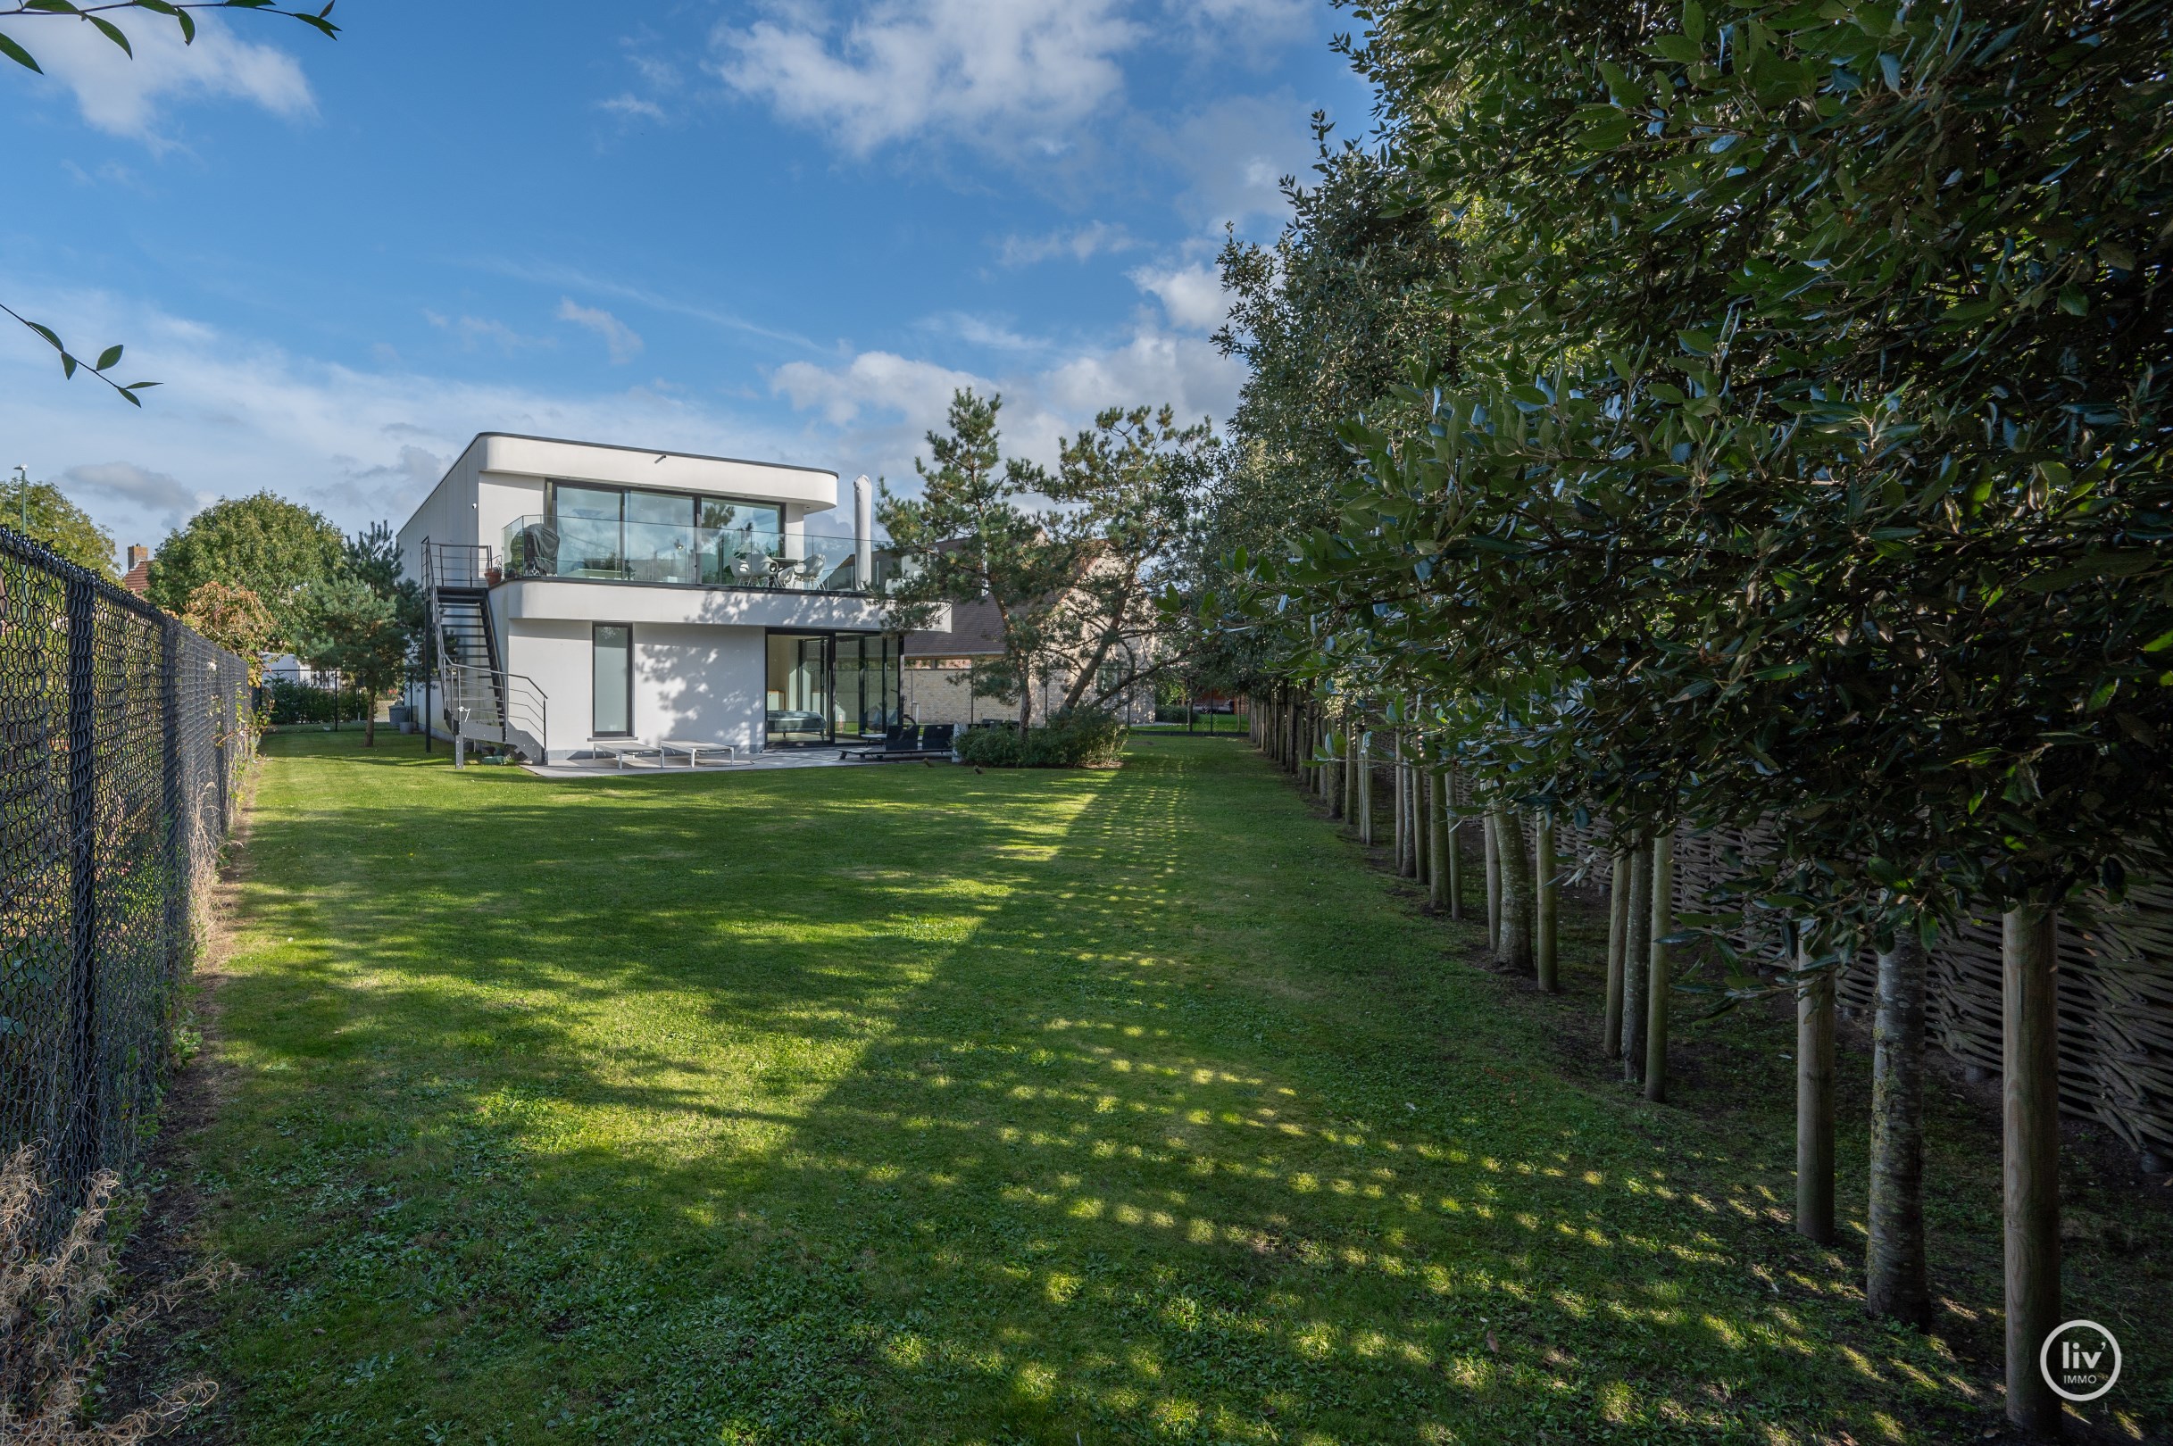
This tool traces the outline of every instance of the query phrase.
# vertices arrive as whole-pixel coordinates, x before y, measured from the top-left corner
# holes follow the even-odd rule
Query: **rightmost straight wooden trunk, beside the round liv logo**
[[[2001,921],[2001,1114],[2006,1133],[2008,1420],[2060,1433],[2038,1350],[2060,1324],[2060,1053],[2049,910]]]

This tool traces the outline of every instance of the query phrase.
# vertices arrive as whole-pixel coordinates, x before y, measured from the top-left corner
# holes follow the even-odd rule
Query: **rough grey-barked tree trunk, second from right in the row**
[[[1871,1242],[1864,1309],[1917,1329],[1932,1324],[1923,1266],[1923,979],[1914,923],[1880,955],[1871,1023]]]

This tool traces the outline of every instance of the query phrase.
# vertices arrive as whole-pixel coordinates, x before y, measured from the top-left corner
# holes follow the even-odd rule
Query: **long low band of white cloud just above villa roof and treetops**
[[[156,543],[209,502],[259,489],[346,530],[398,525],[487,430],[758,456],[913,486],[924,432],[943,423],[960,386],[1002,393],[1008,449],[1054,465],[1063,436],[1104,406],[1169,402],[1182,417],[1219,419],[1243,380],[1206,339],[1141,324],[1060,354],[1050,343],[995,350],[987,371],[882,350],[787,363],[769,376],[771,404],[661,384],[554,393],[395,358],[372,371],[296,356],[106,293],[17,291],[63,334],[126,337],[135,373],[165,382],[137,410],[80,378],[63,382],[50,352],[0,347],[0,436],[17,445],[9,460],[63,478],[122,543]]]

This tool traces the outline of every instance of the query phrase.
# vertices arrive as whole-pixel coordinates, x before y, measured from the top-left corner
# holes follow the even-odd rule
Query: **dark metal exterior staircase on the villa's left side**
[[[548,697],[535,680],[500,667],[491,630],[489,543],[422,541],[422,588],[430,599],[437,684],[454,760],[467,743],[495,743],[522,760],[548,762]]]

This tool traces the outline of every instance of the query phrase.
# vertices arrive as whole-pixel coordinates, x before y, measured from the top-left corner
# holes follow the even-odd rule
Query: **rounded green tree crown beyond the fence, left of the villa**
[[[150,599],[180,612],[206,582],[243,586],[278,625],[272,647],[296,647],[302,588],[341,571],[348,543],[322,512],[256,493],[213,502],[167,534],[150,562]]]

